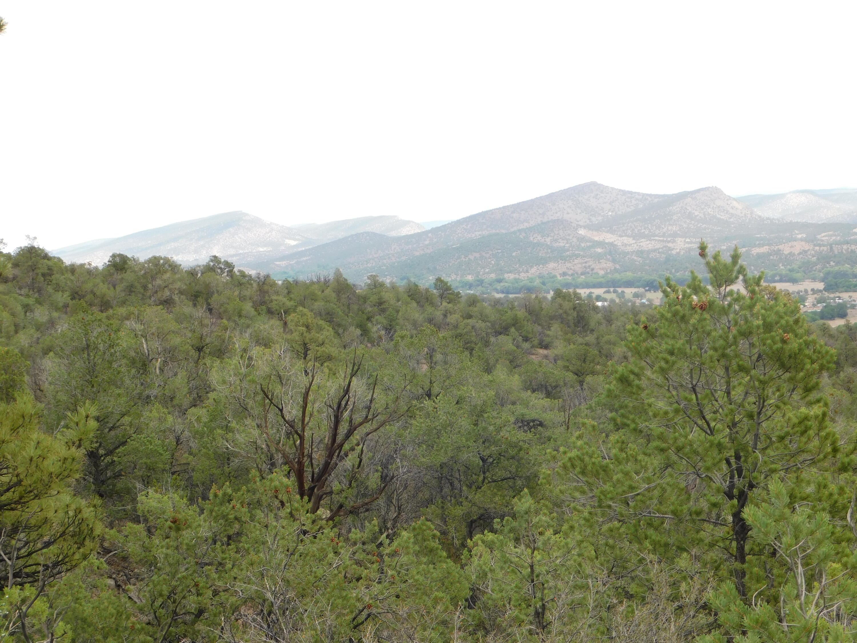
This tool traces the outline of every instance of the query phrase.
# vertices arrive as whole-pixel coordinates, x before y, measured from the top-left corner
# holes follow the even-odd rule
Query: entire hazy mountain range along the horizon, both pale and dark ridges
[[[111,252],[171,255],[193,265],[219,255],[248,270],[296,278],[340,268],[350,279],[526,279],[686,273],[704,237],[738,244],[752,269],[857,253],[857,190],[803,190],[739,199],[716,187],[672,195],[583,183],[429,229],[398,217],[295,227],[224,213],[127,237],[58,249],[67,261]],[[434,223],[434,222],[433,222]]]

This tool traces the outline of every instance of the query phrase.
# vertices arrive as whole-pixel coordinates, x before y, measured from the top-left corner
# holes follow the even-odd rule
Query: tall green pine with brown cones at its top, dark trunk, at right
[[[667,279],[656,318],[628,329],[632,359],[607,394],[620,441],[645,451],[650,475],[609,502],[653,529],[673,521],[712,546],[731,540],[734,586],[746,597],[748,556],[758,553],[746,508],[769,479],[834,466],[840,454],[819,395],[833,352],[797,303],[746,273],[737,248],[726,260],[700,243],[699,254],[710,286],[696,273],[684,287]]]

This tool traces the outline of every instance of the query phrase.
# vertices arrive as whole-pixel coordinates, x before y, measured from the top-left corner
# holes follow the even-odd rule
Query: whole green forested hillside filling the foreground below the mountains
[[[855,640],[857,331],[699,255],[653,309],[0,253],[0,640]]]

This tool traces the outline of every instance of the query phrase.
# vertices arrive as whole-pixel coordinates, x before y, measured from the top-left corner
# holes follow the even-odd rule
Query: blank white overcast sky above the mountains
[[[857,186],[857,3],[0,0],[0,237]]]

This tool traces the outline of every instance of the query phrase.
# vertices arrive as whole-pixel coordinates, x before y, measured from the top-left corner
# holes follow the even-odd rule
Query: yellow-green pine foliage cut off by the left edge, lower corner
[[[40,409],[26,394],[0,403],[0,576],[3,636],[32,640],[28,632],[51,633],[61,613],[45,591],[87,559],[97,546],[99,517],[75,496],[81,444],[94,425],[87,409],[69,415],[57,436],[39,429]]]

